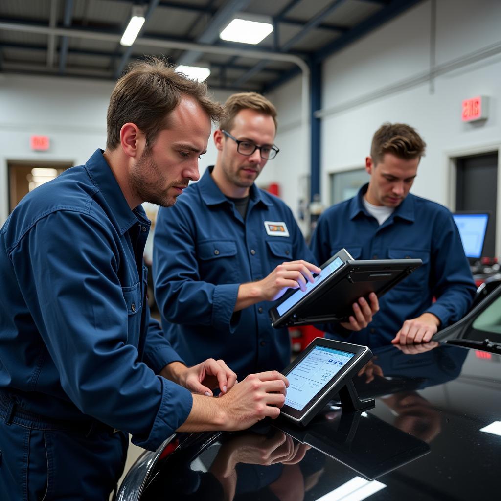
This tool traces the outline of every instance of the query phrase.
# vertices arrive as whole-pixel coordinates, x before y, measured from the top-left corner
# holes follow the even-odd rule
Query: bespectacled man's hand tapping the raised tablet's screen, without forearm
[[[259,281],[262,298],[275,301],[284,295],[287,289],[306,291],[306,282],[314,282],[313,274],[322,270],[307,261],[290,261],[282,263],[268,277]]]

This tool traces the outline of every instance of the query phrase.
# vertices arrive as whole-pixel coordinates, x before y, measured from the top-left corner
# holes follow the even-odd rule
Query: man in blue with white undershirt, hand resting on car
[[[311,241],[318,262],[341,247],[354,259],[423,262],[381,297],[368,327],[353,334],[333,327],[327,337],[371,347],[426,343],[468,311],[475,285],[452,215],[409,193],[425,146],[412,127],[383,124],[365,159],[369,184],[320,216]]]

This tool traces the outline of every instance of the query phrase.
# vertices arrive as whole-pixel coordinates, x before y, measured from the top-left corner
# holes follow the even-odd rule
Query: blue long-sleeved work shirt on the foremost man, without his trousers
[[[192,397],[156,375],[181,359],[145,301],[149,226],[101,150],[23,198],[0,232],[0,388],[29,411],[92,417],[154,450]]]

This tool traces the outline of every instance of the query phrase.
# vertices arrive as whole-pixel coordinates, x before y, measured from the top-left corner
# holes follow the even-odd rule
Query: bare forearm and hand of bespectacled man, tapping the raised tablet
[[[315,281],[312,274],[321,272],[318,266],[303,260],[282,263],[263,280],[241,284],[233,311],[243,310],[261,301],[275,301],[287,289],[306,291],[306,283]]]

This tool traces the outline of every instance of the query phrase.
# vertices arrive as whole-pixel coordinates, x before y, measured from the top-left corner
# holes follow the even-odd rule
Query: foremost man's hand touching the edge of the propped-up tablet
[[[243,430],[265,417],[276,418],[289,381],[278,371],[249,374],[217,400],[224,407],[225,430]]]

